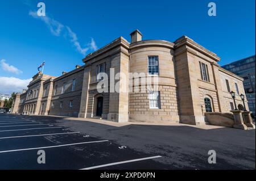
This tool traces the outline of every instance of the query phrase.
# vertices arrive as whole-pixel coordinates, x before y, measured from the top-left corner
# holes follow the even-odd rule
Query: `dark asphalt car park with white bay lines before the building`
[[[255,169],[255,130],[1,114],[0,169]]]

